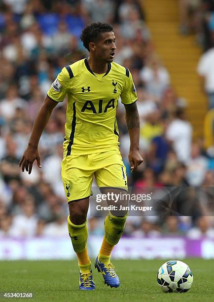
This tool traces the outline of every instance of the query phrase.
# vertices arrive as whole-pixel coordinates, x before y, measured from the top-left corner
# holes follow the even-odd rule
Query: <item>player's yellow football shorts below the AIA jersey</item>
[[[64,156],[62,181],[68,202],[91,195],[93,176],[100,189],[128,189],[126,168],[119,151]]]

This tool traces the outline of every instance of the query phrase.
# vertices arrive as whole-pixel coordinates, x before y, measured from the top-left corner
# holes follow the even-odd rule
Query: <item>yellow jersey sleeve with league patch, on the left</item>
[[[67,69],[64,67],[61,73],[57,76],[47,92],[49,98],[55,102],[63,102],[67,94],[67,86],[70,81],[70,76]]]

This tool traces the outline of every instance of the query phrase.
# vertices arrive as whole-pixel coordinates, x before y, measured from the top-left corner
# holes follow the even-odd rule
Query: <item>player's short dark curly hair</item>
[[[89,43],[90,42],[96,42],[99,40],[100,35],[106,32],[112,32],[113,27],[107,23],[101,23],[96,22],[92,23],[90,25],[87,25],[81,33],[80,39],[83,42],[83,45],[88,51],[89,49]]]

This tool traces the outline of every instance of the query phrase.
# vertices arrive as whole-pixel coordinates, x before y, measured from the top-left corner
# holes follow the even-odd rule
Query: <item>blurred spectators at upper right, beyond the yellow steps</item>
[[[179,32],[195,34],[204,51],[197,72],[209,109],[214,109],[214,0],[179,0],[179,16]]]

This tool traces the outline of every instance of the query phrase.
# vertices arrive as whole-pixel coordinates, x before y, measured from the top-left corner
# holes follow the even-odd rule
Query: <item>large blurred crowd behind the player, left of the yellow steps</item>
[[[66,100],[57,105],[41,136],[42,169],[35,164],[28,175],[18,163],[51,83],[64,66],[88,56],[79,39],[82,28],[100,20],[113,24],[114,61],[129,68],[138,92],[144,162],[133,174],[125,109],[121,103],[117,108],[129,185],[214,186],[214,152],[204,150],[201,139],[192,142],[186,102],[176,94],[156,53],[140,1],[0,0],[0,236],[67,235],[68,205],[61,182]],[[194,202],[199,206],[192,217],[129,217],[125,234],[214,238],[210,195],[193,194],[193,207]],[[181,200],[184,207],[188,202]],[[88,217],[91,233],[101,235],[102,224],[103,218]]]

